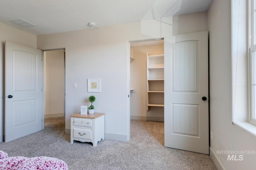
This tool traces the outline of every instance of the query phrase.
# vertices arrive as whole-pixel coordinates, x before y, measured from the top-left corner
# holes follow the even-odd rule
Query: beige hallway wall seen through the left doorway
[[[64,50],[44,53],[44,117],[64,116]]]

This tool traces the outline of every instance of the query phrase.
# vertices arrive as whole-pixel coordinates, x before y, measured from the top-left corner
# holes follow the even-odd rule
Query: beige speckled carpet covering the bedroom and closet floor
[[[74,142],[65,133],[64,117],[46,118],[45,129],[8,143],[8,156],[49,156],[70,170],[216,170],[210,156],[164,147],[164,123],[131,120],[129,142],[105,139],[96,147]]]

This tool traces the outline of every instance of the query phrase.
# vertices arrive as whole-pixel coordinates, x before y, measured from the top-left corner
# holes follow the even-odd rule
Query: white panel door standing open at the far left
[[[5,142],[42,130],[42,51],[5,43]]]

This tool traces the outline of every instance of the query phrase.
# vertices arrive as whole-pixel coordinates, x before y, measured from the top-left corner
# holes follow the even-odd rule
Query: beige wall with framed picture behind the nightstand
[[[206,12],[198,15],[205,16]],[[190,19],[194,20],[190,24],[197,25],[192,26],[194,29],[191,32],[207,30],[206,20],[197,20],[194,15]],[[144,26],[141,22],[134,22],[37,37],[38,49],[66,48],[66,133],[70,132],[69,116],[80,112],[81,105],[89,105],[88,97],[94,95],[95,111],[106,113],[105,138],[121,141],[130,139],[128,41],[152,38],[144,30],[150,29],[150,25]],[[165,31],[158,35],[165,36],[163,33],[166,30],[172,34],[171,25],[165,26],[162,27]],[[189,30],[190,26],[186,28]],[[160,30],[152,31],[156,35],[155,32]],[[87,92],[87,78],[101,78],[100,93]],[[77,82],[77,88],[73,88],[74,82]]]

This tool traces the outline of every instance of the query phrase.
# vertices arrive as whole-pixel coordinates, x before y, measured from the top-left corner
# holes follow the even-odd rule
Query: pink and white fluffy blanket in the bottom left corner
[[[0,170],[68,170],[68,166],[64,161],[57,158],[46,156],[8,157],[7,153],[0,150]]]

